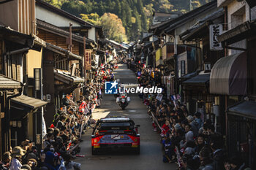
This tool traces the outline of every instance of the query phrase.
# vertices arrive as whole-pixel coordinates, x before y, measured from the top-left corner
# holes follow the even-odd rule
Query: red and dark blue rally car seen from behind
[[[140,154],[140,134],[134,121],[127,117],[107,117],[97,121],[91,135],[91,154],[100,150],[133,150]]]

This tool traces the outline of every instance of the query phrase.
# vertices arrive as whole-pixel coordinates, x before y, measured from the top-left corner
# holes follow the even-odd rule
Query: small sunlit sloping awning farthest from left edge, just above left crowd
[[[80,77],[71,76],[69,72],[64,72],[64,70],[54,69],[54,78],[66,84],[74,84],[84,82]]]

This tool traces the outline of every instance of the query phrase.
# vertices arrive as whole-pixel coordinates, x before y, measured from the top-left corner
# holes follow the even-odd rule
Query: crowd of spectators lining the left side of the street
[[[71,94],[62,99],[62,107],[54,115],[53,123],[47,128],[42,148],[26,139],[20,146],[10,148],[4,152],[0,162],[0,170],[66,170],[81,169],[80,163],[74,160],[79,155],[81,135],[86,128],[91,128],[95,121],[91,113],[99,107],[102,99],[104,82],[113,80],[113,69],[116,60],[102,63],[94,75],[94,79],[87,81],[81,87],[80,101],[75,101]]]

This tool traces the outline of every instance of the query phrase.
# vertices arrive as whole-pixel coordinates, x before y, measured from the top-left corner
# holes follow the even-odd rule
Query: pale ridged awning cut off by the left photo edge
[[[21,82],[12,80],[0,74],[0,89],[16,89],[21,88]]]

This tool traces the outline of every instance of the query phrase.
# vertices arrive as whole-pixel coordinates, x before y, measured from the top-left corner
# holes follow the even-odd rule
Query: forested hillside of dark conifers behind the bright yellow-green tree
[[[61,7],[91,23],[97,23],[105,13],[112,13],[121,18],[129,40],[137,39],[139,34],[148,30],[152,14],[158,12],[188,12],[190,0],[45,0],[56,7]],[[211,0],[191,0],[192,8],[206,4]],[[83,15],[80,15],[83,14]]]

